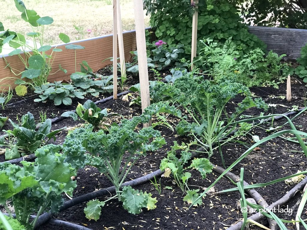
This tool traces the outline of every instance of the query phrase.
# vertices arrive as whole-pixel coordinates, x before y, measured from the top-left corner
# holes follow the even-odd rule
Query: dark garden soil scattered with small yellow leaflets
[[[306,105],[306,93],[307,88],[305,85],[299,84],[295,79],[292,82],[292,102],[286,102],[286,84],[282,83],[279,89],[272,87],[254,87],[251,91],[257,97],[261,97],[266,103],[270,104],[269,110],[266,114],[271,113],[285,113],[293,108],[301,108]],[[108,96],[108,95],[107,95]],[[34,96],[35,97],[35,96]],[[106,97],[106,96],[105,96]],[[91,98],[99,100],[101,98]],[[234,111],[234,105],[239,102],[240,97],[235,98],[231,103],[227,105],[227,111]],[[47,117],[52,118],[59,116],[61,113],[67,110],[73,110],[76,108],[77,101],[73,101],[71,106],[54,106],[52,103],[34,103],[33,99],[29,99],[26,102],[7,107],[2,111],[2,115],[10,117],[12,120],[16,120],[16,116],[20,118],[22,114],[30,111],[34,117],[39,121],[39,111],[47,110]],[[86,99],[80,100],[80,103],[84,103]],[[101,108],[110,109],[109,112],[115,112],[123,115],[126,118],[131,118],[141,113],[141,109],[137,106],[129,107],[129,102],[122,101],[122,98],[118,100],[111,100],[107,103],[98,105]],[[244,114],[246,115],[259,115],[261,110],[249,109]],[[294,121],[298,130],[307,130],[306,112],[297,117]],[[114,117],[114,121],[119,122],[119,117]],[[176,119],[171,118],[175,123]],[[285,123],[285,120],[274,121],[273,127]],[[61,128],[64,126],[74,127],[78,122],[72,119],[65,119],[54,125],[53,129]],[[80,125],[80,124],[79,124]],[[260,139],[270,135],[270,132],[266,131],[270,129],[271,123],[267,122],[261,126],[253,129],[249,134],[242,137],[241,140],[246,142],[246,146],[230,143],[222,147],[223,157],[226,166],[231,165],[240,155],[244,153],[254,144],[252,135],[258,135]],[[8,123],[3,129],[12,128]],[[150,153],[145,158],[139,160],[139,162],[132,168],[131,173],[127,177],[127,181],[139,178],[143,175],[156,171],[159,168],[161,159],[166,156],[166,152],[173,145],[173,141],[177,140],[188,141],[187,137],[180,137],[176,132],[172,132],[167,128],[156,127],[161,131],[161,135],[165,137],[167,145],[161,150]],[[284,129],[284,128],[283,128]],[[3,133],[2,133],[3,134]],[[57,139],[57,143],[61,143],[66,136],[66,131],[62,132]],[[291,136],[291,135],[286,135]],[[207,157],[206,155],[203,155]],[[0,161],[4,161],[4,155],[0,155]],[[214,165],[222,167],[222,161],[220,154],[216,152],[210,159]],[[256,148],[250,155],[248,155],[243,161],[241,161],[231,172],[239,175],[240,167],[244,167],[244,180],[249,184],[269,182],[274,179],[285,177],[287,175],[295,174],[298,170],[305,171],[307,168],[306,156],[301,152],[299,144],[289,142],[282,138],[275,138],[265,145]],[[210,186],[212,182],[219,176],[216,173],[209,174],[206,179],[202,180],[200,174],[191,171],[192,178],[188,182],[190,189],[200,189],[200,192],[205,187]],[[85,167],[78,171],[75,178],[77,182],[77,188],[74,191],[74,197],[93,192],[95,190],[107,188],[112,186],[108,179],[101,175],[94,167]],[[95,222],[93,220],[88,221],[85,218],[83,209],[85,203],[76,205],[70,209],[67,209],[55,216],[59,220],[65,220],[73,223],[77,223],[87,228],[94,230],[103,229],[170,229],[170,230],[196,230],[196,229],[227,229],[230,225],[234,224],[237,220],[242,218],[242,214],[237,209],[237,201],[240,199],[239,192],[232,192],[227,194],[207,194],[203,198],[203,205],[200,207],[193,207],[188,209],[189,205],[182,200],[182,192],[176,185],[173,184],[170,178],[157,178],[158,182],[161,182],[161,194],[154,188],[154,186],[148,182],[137,187],[137,189],[145,190],[153,194],[153,197],[157,197],[157,208],[154,210],[143,210],[138,215],[129,214],[123,209],[122,204],[119,201],[112,200],[108,202],[106,206],[102,208],[102,214],[100,219]],[[266,186],[264,188],[256,189],[263,198],[270,205],[274,201],[277,201],[286,194],[294,184],[286,184],[285,182],[279,182],[277,184]],[[169,189],[165,187],[168,186]],[[214,186],[215,191],[221,191],[224,189],[235,187],[229,180],[223,178]],[[110,197],[110,196],[109,196]],[[248,197],[248,195],[246,195]],[[298,192],[293,199],[286,204],[289,209],[293,209],[291,213],[277,214],[279,217],[291,220],[295,219],[295,213],[298,207],[297,200],[301,197],[301,192]],[[106,200],[108,197],[101,197],[101,200]],[[69,198],[64,196],[65,200]],[[306,210],[303,211],[303,213]],[[288,215],[289,214],[289,215]],[[303,214],[305,215],[305,214]],[[305,216],[304,218],[305,219]],[[265,221],[261,222],[265,223]],[[288,224],[288,229],[294,229],[295,225]],[[52,224],[45,224],[39,228],[39,230],[66,230],[68,228],[62,226],[56,226]],[[252,229],[257,229],[252,227]]]

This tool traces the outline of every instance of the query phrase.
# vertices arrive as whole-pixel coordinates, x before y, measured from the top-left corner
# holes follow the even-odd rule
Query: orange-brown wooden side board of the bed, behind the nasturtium
[[[123,33],[123,43],[125,47],[125,59],[130,60],[130,51],[135,48],[135,31],[127,31]],[[97,71],[102,67],[112,64],[110,60],[102,62],[104,59],[113,57],[113,35],[101,36],[91,39],[85,39],[80,41],[70,42],[68,44],[78,44],[84,46],[85,49],[77,50],[77,71],[80,71],[79,63],[83,60],[87,61],[89,66]],[[49,82],[69,80],[70,75],[75,72],[75,52],[74,50],[68,50],[65,48],[67,44],[60,44],[56,48],[60,48],[63,51],[56,53],[52,63],[51,73],[56,72],[59,69],[59,64],[67,70],[65,74],[63,71],[57,71],[55,74],[51,74],[48,77]],[[54,46],[55,47],[55,46]],[[119,50],[119,49],[117,49]],[[53,53],[54,54],[54,53]],[[118,53],[119,55],[119,53]],[[17,55],[5,56],[10,66],[18,71],[23,71],[25,66],[20,61]],[[6,62],[3,58],[0,58],[0,79],[16,77],[10,68],[6,67]],[[10,84],[14,87],[14,79],[5,79],[1,84]]]

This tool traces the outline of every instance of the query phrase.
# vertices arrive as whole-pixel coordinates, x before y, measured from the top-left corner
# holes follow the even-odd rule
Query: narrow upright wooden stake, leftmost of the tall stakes
[[[113,98],[117,99],[117,0],[113,0]]]

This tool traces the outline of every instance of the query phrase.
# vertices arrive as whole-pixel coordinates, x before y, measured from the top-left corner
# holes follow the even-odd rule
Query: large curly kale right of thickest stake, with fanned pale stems
[[[225,144],[235,138],[227,136],[236,126],[230,125],[241,113],[251,107],[266,108],[266,104],[260,98],[253,99],[250,90],[231,79],[224,79],[218,84],[201,80],[199,77],[184,75],[173,84],[157,85],[153,94],[153,100],[167,98],[169,102],[178,103],[188,113],[188,117],[181,117],[176,127],[179,135],[191,135],[198,144],[208,148],[208,156],[213,154],[214,144]],[[238,94],[244,99],[230,117],[223,114],[225,106]],[[228,127],[229,126],[229,127]],[[224,127],[228,127],[224,130]],[[224,130],[222,133],[221,130]],[[237,132],[242,133],[242,132]]]

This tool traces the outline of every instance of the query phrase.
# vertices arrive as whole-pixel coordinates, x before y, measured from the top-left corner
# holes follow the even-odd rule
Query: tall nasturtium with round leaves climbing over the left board
[[[51,66],[56,52],[62,51],[58,48],[52,49],[50,45],[44,44],[45,26],[52,24],[53,19],[48,16],[40,17],[35,10],[27,9],[21,0],[14,0],[14,2],[17,10],[21,12],[21,18],[31,25],[33,32],[27,33],[27,36],[33,38],[33,46],[26,43],[24,35],[4,30],[2,23],[0,23],[0,31],[3,31],[0,33],[0,52],[3,44],[8,43],[10,47],[15,48],[8,55],[17,55],[25,65],[25,71],[16,72],[16,69],[7,63],[14,75],[21,75],[21,79],[17,78],[15,81],[16,84],[41,86],[47,82],[48,75],[51,74]],[[63,42],[69,42],[69,37],[64,33],[60,33],[59,37]],[[25,56],[21,56],[21,52]]]

